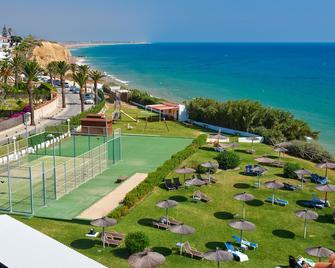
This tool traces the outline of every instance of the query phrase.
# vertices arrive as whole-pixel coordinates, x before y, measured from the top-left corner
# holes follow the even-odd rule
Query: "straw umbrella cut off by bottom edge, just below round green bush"
[[[133,268],[154,268],[165,262],[165,257],[154,251],[145,250],[128,258],[128,264]]]

